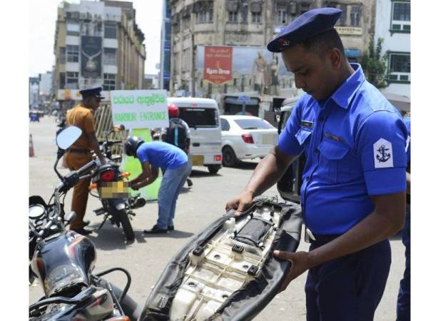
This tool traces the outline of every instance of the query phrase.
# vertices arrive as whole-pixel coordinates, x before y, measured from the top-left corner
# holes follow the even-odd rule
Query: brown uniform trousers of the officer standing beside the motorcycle
[[[66,153],[64,156],[69,170],[78,170],[92,159],[91,154]],[[73,200],[71,200],[71,210],[76,212],[76,218],[71,222],[70,229],[83,228],[83,217],[88,203],[89,185],[91,178],[80,180],[73,188]]]

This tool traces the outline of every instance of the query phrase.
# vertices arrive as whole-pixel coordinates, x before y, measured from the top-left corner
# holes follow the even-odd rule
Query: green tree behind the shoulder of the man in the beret
[[[381,56],[382,43],[384,39],[377,39],[376,48],[374,48],[374,36],[370,36],[369,48],[364,51],[359,61],[365,77],[376,88],[384,88],[387,85],[385,81],[387,71],[387,55]]]

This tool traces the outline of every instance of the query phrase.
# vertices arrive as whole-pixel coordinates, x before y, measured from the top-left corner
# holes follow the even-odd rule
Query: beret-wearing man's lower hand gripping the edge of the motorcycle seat
[[[287,277],[285,277],[285,281],[282,283],[279,292],[285,290],[292,280],[312,267],[308,252],[292,253],[275,250],[273,251],[273,255],[278,260],[289,260],[291,262],[290,271],[288,272]]]

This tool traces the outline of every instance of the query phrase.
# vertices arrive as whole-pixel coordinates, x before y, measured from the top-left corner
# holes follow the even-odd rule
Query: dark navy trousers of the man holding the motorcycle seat
[[[334,237],[315,238],[310,250]],[[372,321],[390,265],[389,240],[383,240],[310,269],[305,285],[307,321]]]

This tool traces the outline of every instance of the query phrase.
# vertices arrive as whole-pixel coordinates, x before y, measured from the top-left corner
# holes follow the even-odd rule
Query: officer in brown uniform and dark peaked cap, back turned
[[[81,128],[82,134],[73,145],[68,148],[66,153],[66,164],[69,170],[78,170],[92,159],[92,151],[96,153],[101,163],[106,163],[102,155],[95,135],[95,121],[93,114],[100,106],[101,87],[89,88],[79,91],[82,95],[82,102],[68,111],[66,123],[68,126],[77,126]],[[88,235],[91,230],[85,230],[84,227],[89,222],[83,222],[85,216],[86,203],[88,202],[89,184],[91,178],[80,180],[73,189],[73,200],[71,201],[71,210],[76,212],[76,218],[70,224],[70,230],[74,230],[82,235]]]

